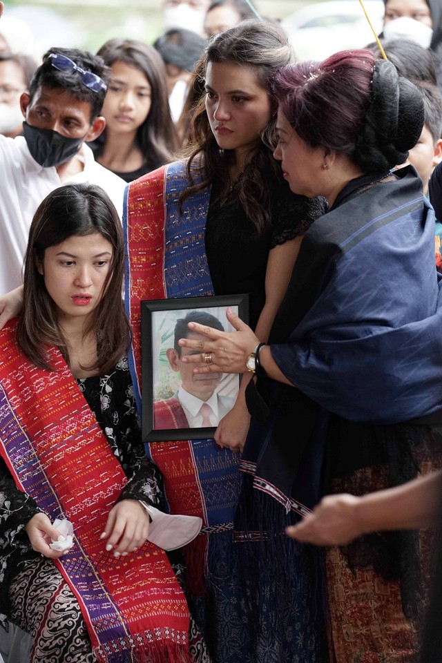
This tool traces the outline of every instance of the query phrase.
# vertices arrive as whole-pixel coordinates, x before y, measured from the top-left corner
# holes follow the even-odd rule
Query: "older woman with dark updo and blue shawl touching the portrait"
[[[277,577],[289,564],[284,526],[323,494],[396,486],[440,463],[442,311],[434,212],[412,166],[392,170],[421,135],[418,88],[354,50],[282,68],[271,92],[283,176],[329,211],[305,233],[267,343],[233,311],[236,332],[189,324],[202,351],[179,343],[195,366],[209,357],[197,373],[256,372],[236,526],[274,532]],[[425,537],[387,532],[327,550],[334,662],[415,660]]]

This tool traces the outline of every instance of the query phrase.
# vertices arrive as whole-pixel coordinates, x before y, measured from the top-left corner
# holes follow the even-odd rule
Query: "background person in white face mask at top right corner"
[[[442,88],[442,3],[440,0],[384,0],[384,39],[412,39],[430,48],[438,59]]]

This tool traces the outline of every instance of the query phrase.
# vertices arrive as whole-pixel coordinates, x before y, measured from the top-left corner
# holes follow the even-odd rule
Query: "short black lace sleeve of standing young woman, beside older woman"
[[[306,233],[311,224],[327,211],[325,198],[296,195],[286,184],[280,184],[273,198],[271,249]]]

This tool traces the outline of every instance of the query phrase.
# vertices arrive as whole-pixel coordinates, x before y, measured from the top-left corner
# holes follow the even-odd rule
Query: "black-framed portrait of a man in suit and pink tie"
[[[193,321],[234,332],[227,307],[248,323],[248,294],[141,302],[144,442],[213,437],[233,407],[240,376],[193,373],[195,364],[181,357],[194,351],[177,345],[186,336],[199,338],[187,326]]]

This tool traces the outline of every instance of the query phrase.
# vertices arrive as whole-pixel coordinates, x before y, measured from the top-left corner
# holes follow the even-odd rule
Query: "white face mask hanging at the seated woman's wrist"
[[[202,519],[198,516],[182,516],[164,513],[141,502],[151,517],[148,541],[163,550],[176,550],[189,544],[200,533]]]

